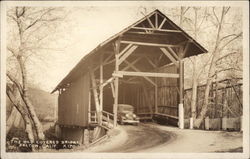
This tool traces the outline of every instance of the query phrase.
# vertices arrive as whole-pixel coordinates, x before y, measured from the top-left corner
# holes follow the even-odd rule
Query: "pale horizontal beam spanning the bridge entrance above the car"
[[[153,72],[131,72],[131,71],[118,71],[117,73],[124,76],[179,78],[179,75],[175,73],[153,73]]]

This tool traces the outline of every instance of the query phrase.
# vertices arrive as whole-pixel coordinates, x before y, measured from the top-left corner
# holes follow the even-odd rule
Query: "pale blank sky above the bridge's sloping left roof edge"
[[[42,89],[53,90],[80,59],[98,44],[143,17],[139,7],[77,7],[68,8],[68,20],[57,29],[52,42],[62,51],[48,51],[45,66],[34,68],[33,81]],[[153,11],[148,8],[148,13]],[[42,72],[42,73],[41,73]]]

